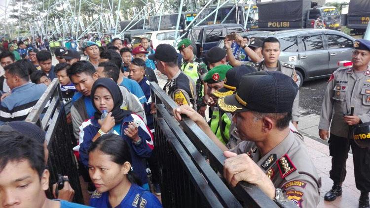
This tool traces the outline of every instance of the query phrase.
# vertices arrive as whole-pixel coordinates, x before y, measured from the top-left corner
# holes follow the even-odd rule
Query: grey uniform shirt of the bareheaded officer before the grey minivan
[[[278,60],[277,64],[278,66],[276,68],[276,71],[280,71],[281,73],[291,77],[295,82],[298,82],[299,76],[296,74],[296,70],[293,64],[284,63],[280,60]],[[270,70],[273,69],[273,68],[267,68],[267,66],[264,64],[264,60],[258,63],[248,62],[245,65],[252,66],[256,68],[258,71],[260,70],[269,71],[268,69]],[[298,121],[298,117],[300,116],[298,105],[299,105],[299,89],[298,89],[296,98],[294,99],[294,103],[293,103],[293,109],[292,109],[292,121],[293,122]]]

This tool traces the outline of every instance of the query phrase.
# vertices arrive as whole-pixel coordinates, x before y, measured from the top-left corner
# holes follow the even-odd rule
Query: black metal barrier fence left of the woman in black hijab
[[[46,113],[42,111],[48,106]],[[50,171],[48,197],[52,197],[52,184],[58,180],[58,174],[68,176],[74,189],[73,201],[83,204],[81,185],[78,178],[77,162],[73,154],[73,140],[67,124],[66,109],[58,79],[55,78],[28,115],[26,121],[35,123],[46,132],[49,159],[47,168]]]

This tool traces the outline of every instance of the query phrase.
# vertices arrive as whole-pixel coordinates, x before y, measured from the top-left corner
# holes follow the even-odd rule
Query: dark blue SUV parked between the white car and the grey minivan
[[[212,47],[217,46],[220,36],[225,36],[231,32],[245,32],[240,24],[216,24],[193,27],[189,30],[188,38],[193,44],[194,54],[198,58],[203,58],[204,54]]]

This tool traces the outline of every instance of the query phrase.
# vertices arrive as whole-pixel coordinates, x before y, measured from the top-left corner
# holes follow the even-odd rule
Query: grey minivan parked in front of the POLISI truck
[[[279,59],[294,64],[302,81],[329,77],[338,68],[338,61],[351,59],[355,40],[343,32],[324,29],[281,30],[254,35],[269,36],[280,41]]]

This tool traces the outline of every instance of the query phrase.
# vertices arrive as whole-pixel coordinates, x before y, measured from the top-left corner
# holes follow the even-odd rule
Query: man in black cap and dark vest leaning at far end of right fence
[[[179,69],[176,49],[169,44],[159,44],[155,54],[150,54],[148,58],[153,60],[156,68],[168,77],[163,90],[179,106],[187,104],[196,110],[195,84]]]

